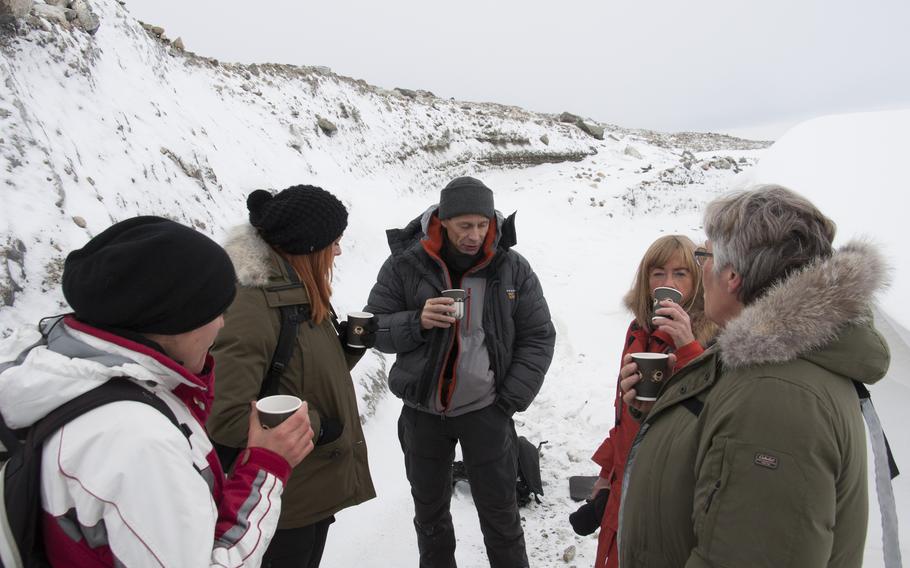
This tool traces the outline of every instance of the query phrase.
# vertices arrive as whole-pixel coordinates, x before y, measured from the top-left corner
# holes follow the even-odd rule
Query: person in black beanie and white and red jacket
[[[234,270],[202,235],[159,217],[117,223],[71,253],[71,315],[0,366],[0,413],[28,427],[118,377],[162,399],[181,427],[132,401],[72,420],[42,452],[42,530],[54,566],[258,566],[291,467],[311,450],[304,406],[249,443],[225,477],[205,431],[209,347],[234,297]]]

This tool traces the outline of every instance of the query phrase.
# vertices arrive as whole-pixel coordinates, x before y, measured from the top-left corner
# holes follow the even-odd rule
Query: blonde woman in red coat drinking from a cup
[[[695,243],[682,235],[663,236],[648,247],[638,265],[632,288],[624,298],[635,319],[626,331],[623,357],[627,353],[675,353],[676,367],[680,368],[698,357],[714,336],[715,326],[705,318],[701,271],[693,255],[695,248]],[[678,290],[682,300],[679,303],[663,300],[655,310],[654,290],[660,287]],[[600,525],[597,568],[615,568],[619,564],[616,532],[622,477],[639,426],[629,413],[634,409],[623,403],[621,395],[617,382],[615,425],[592,457],[601,466],[591,494],[592,504],[586,511],[589,518],[590,513],[596,511],[593,521]],[[576,531],[580,530],[580,520],[577,514],[573,515]],[[590,526],[588,534],[594,529],[595,526]]]

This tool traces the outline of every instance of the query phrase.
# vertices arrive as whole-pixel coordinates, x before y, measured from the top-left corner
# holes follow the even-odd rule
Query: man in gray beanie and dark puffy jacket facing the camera
[[[389,388],[404,402],[398,436],[414,497],[420,566],[455,566],[449,502],[455,444],[490,565],[528,566],[515,495],[512,414],[531,404],[553,358],[556,331],[528,261],[511,250],[515,215],[460,177],[404,229],[370,292],[376,347],[398,355]],[[463,289],[463,314],[442,291]]]

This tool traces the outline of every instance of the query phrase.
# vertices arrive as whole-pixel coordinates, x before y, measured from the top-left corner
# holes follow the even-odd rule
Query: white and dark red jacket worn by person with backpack
[[[210,360],[194,375],[154,349],[66,317],[47,345],[0,373],[0,413],[13,428],[114,377],[155,393],[185,425],[182,432],[155,408],[123,401],[47,440],[41,504],[54,566],[260,565],[290,467],[254,448],[224,476],[204,426],[212,367]]]

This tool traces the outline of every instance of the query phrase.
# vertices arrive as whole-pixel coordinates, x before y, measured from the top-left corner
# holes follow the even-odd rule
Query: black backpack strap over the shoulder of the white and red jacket
[[[27,565],[30,565],[31,559],[44,558],[44,541],[39,524],[44,442],[86,412],[122,400],[142,402],[156,408],[182,431],[173,411],[153,392],[129,379],[115,378],[56,408],[28,429],[23,442],[17,442],[18,450],[3,469],[3,500],[10,521],[10,533]]]

